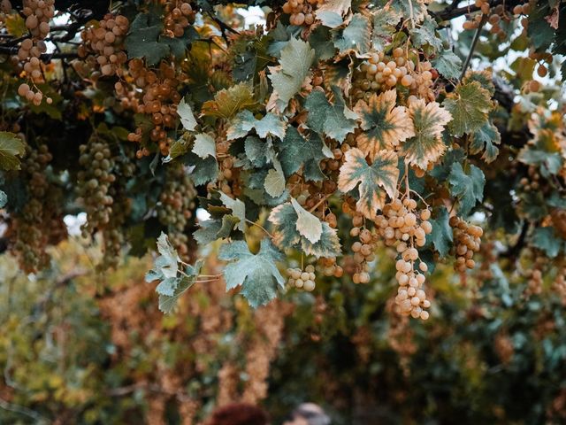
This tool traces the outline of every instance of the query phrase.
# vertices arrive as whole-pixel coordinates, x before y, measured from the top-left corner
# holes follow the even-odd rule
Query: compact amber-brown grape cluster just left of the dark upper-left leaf
[[[93,69],[93,78],[96,79],[100,73],[104,76],[121,75],[122,66],[127,61],[124,38],[128,27],[125,16],[107,13],[98,26],[86,27],[80,33],[82,44],[77,52]],[[96,69],[100,69],[100,73],[94,71]]]

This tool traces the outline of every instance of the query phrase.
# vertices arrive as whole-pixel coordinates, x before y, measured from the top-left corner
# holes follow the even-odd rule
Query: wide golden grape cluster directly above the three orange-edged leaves
[[[358,99],[368,100],[371,92],[402,86],[409,89],[411,94],[433,100],[431,87],[437,77],[438,73],[430,62],[415,64],[407,57],[405,50],[397,47],[390,58],[380,51],[372,53],[363,62],[355,78],[356,88],[353,94]]]

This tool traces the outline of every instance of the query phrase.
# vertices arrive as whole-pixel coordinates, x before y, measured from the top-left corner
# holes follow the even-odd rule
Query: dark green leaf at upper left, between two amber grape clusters
[[[167,43],[157,42],[163,24],[152,25],[152,20],[149,13],[136,16],[125,42],[128,58],[146,58],[148,65],[156,65],[171,51]]]

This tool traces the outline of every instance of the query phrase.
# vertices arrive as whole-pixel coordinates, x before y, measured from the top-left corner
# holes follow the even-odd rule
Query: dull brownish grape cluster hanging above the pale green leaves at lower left
[[[167,182],[159,197],[157,218],[169,228],[171,243],[183,259],[189,253],[185,230],[195,211],[195,197],[195,187],[185,168],[181,165],[168,167]]]

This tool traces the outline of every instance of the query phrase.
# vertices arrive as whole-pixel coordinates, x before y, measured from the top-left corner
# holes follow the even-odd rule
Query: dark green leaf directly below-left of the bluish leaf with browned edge
[[[287,177],[302,169],[306,180],[320,182],[325,174],[320,169],[320,161],[325,158],[324,145],[317,135],[303,137],[296,128],[287,128],[287,134],[282,142],[276,142],[279,149],[281,167]]]

